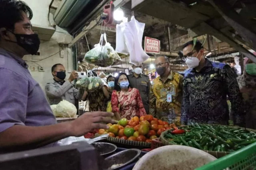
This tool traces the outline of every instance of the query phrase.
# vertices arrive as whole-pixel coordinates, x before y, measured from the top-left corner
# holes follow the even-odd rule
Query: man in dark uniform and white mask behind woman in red
[[[150,80],[145,74],[142,74],[142,64],[139,66],[132,65],[133,73],[128,75],[130,85],[140,91],[142,103],[149,114],[149,98],[150,98]]]

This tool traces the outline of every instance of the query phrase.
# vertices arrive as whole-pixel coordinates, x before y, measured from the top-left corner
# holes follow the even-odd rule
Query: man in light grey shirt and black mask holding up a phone
[[[58,104],[62,100],[66,100],[75,104],[75,99],[81,100],[84,90],[77,90],[73,87],[71,82],[78,78],[76,71],[73,71],[68,78],[66,78],[66,70],[62,64],[54,64],[52,66],[53,82],[47,83],[45,86],[46,96],[49,98],[50,105]]]

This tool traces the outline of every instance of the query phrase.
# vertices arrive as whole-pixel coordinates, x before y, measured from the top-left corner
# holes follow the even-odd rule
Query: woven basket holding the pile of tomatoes
[[[95,135],[95,137],[99,137],[99,136],[100,134],[98,133]],[[131,146],[145,147],[145,148],[150,148],[151,146],[151,143],[148,143],[148,142],[128,141],[125,139],[118,139],[115,137],[108,137],[106,140],[112,143],[120,143],[122,145],[131,145]]]

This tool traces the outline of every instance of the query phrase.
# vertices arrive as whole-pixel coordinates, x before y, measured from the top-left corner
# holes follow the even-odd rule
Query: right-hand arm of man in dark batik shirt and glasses
[[[245,124],[245,111],[243,106],[243,98],[240,92],[238,82],[234,76],[232,68],[226,65],[220,71],[222,80],[224,81],[224,88],[228,94],[231,102],[231,107],[234,115],[234,125],[244,127]]]

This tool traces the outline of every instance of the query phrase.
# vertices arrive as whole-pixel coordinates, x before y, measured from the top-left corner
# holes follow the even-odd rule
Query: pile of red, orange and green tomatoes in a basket
[[[126,118],[118,121],[118,124],[108,124],[109,129],[100,129],[99,134],[106,134],[129,141],[151,143],[152,139],[158,138],[162,132],[171,129],[173,124],[154,118],[152,115],[135,116],[131,120]]]

